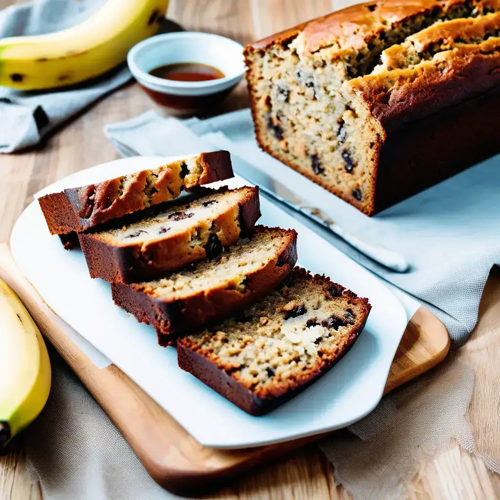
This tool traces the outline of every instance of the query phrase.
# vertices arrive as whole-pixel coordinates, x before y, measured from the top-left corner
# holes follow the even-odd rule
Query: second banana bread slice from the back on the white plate
[[[258,187],[198,188],[186,204],[127,215],[78,233],[90,276],[133,283],[213,257],[260,217]]]

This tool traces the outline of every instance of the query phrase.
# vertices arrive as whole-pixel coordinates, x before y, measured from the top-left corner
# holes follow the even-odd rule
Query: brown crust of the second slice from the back
[[[225,190],[227,188],[223,187],[219,191]],[[258,187],[241,187],[233,191],[242,192],[241,201],[212,220],[223,247],[234,244],[240,233],[252,228],[260,216]],[[173,236],[165,235],[147,244],[112,244],[93,232],[78,233],[78,239],[92,278],[133,283],[205,258],[203,246],[191,245],[190,229],[187,227]]]

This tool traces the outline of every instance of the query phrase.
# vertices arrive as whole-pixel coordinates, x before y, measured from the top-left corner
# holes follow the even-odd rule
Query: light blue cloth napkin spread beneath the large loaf
[[[262,152],[253,136],[248,109],[184,122],[148,111],[108,124],[104,131],[123,156],[191,152],[179,151],[175,140],[188,131],[205,144],[208,141],[214,148],[228,149],[300,192],[309,204],[321,208],[352,234],[402,253],[410,270],[390,271],[301,218],[351,258],[424,304],[446,325],[453,349],[465,342],[477,322],[489,271],[500,264],[500,156],[367,217]],[[196,145],[195,137],[192,143]],[[244,176],[244,172],[238,173]]]

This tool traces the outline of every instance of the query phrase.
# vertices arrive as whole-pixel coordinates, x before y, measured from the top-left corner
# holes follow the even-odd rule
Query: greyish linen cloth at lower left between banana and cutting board
[[[76,375],[51,349],[52,386],[26,430],[28,470],[44,500],[167,500]]]

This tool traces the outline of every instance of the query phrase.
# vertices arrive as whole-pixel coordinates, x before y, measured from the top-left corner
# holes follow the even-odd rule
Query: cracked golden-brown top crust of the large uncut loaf
[[[500,84],[500,0],[382,0],[333,12],[246,47],[281,45],[321,65],[345,64],[339,92],[385,132]]]

